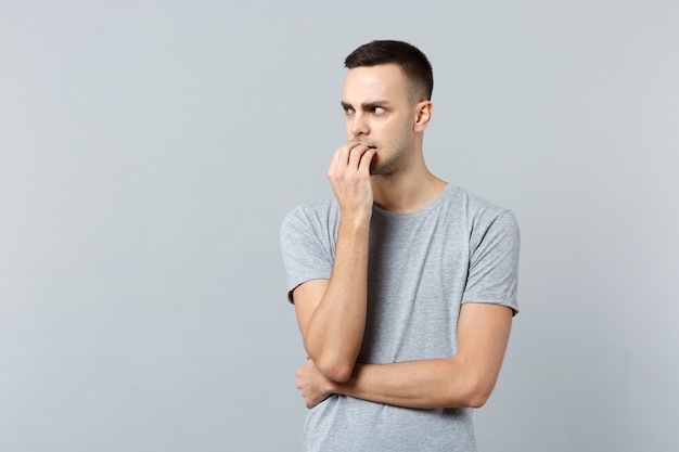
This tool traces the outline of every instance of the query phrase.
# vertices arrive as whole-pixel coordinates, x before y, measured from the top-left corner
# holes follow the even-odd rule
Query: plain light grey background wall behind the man
[[[0,2],[0,450],[295,451],[284,214],[344,56],[434,69],[433,171],[512,208],[482,451],[676,451],[679,3]]]

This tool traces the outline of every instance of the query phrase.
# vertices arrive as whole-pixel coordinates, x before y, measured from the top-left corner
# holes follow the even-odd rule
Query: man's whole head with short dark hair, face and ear
[[[414,47],[373,41],[347,56],[342,94],[348,141],[375,148],[371,173],[422,168],[422,134],[432,117],[432,66]]]

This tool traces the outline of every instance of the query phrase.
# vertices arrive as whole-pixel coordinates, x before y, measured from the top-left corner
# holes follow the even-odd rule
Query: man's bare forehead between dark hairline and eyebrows
[[[342,96],[345,102],[397,101],[407,95],[406,76],[396,64],[355,67],[344,78]]]

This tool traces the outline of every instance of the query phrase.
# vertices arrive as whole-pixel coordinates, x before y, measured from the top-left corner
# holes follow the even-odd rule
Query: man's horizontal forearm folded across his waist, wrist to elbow
[[[393,364],[357,364],[331,391],[357,399],[415,409],[482,406],[496,378],[459,358]]]

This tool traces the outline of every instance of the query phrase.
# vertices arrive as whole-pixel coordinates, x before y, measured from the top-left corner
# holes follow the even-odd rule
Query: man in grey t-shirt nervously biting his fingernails
[[[471,412],[496,384],[517,312],[514,216],[423,157],[432,68],[417,48],[356,49],[334,198],[281,229],[307,362],[306,451],[475,451]]]

